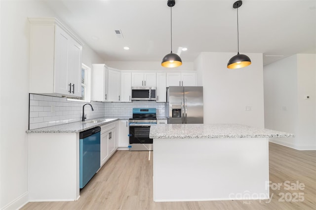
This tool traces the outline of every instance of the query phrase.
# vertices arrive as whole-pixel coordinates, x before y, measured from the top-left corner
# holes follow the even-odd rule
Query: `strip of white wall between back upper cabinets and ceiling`
[[[105,61],[105,64],[119,70],[194,70],[193,62],[183,62],[180,67],[176,68],[162,67],[161,62]]]

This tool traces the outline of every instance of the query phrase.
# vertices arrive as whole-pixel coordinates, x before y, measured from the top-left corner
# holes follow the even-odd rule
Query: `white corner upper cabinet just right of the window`
[[[92,64],[91,101],[119,102],[120,71],[105,64]]]

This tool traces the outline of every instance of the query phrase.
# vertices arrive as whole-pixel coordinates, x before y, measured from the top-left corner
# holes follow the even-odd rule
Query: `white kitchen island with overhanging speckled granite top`
[[[237,124],[152,126],[154,201],[269,199],[269,140],[293,134]]]

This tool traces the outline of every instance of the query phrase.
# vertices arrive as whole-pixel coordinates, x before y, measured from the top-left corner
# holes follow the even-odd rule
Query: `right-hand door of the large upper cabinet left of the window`
[[[70,39],[68,45],[68,82],[72,84],[71,94],[81,96],[81,53],[82,46]]]

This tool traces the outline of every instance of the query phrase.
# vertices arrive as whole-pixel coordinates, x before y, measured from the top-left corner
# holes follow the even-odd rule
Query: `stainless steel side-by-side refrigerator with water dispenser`
[[[166,115],[169,124],[202,124],[203,87],[168,87]]]

